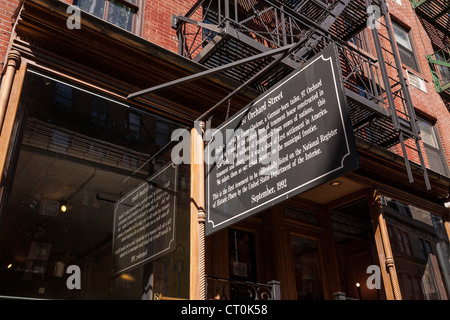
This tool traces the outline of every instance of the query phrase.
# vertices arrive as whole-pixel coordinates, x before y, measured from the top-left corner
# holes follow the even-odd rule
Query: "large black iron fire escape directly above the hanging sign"
[[[372,13],[379,13],[380,19]],[[214,107],[229,103],[246,86],[267,90],[334,43],[355,136],[386,149],[400,145],[410,182],[414,180],[408,155],[417,155],[430,189],[384,0],[199,0],[186,15],[173,16],[172,26],[180,55],[242,83]],[[360,32],[367,26],[373,54],[363,50]]]

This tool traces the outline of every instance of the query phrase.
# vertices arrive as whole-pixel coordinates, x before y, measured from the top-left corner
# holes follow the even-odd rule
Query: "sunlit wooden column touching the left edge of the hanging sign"
[[[205,292],[205,171],[203,159],[204,123],[191,130],[191,244],[190,299],[204,300]]]

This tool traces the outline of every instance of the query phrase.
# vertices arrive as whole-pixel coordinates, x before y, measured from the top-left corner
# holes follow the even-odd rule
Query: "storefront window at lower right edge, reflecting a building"
[[[383,213],[404,300],[447,300],[450,246],[443,219],[386,196]]]

